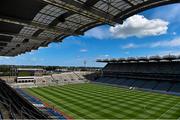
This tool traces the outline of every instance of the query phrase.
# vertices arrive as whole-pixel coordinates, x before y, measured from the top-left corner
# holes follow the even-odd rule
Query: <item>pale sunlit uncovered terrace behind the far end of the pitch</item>
[[[87,83],[92,78],[94,72],[91,71],[73,71],[44,76],[26,76],[17,77],[15,82],[8,83],[13,88],[32,88],[49,85],[66,85]]]

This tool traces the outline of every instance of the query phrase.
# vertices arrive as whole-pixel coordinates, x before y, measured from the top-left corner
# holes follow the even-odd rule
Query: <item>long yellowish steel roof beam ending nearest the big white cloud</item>
[[[113,19],[112,15],[109,15],[108,13],[104,11],[97,10],[93,7],[86,8],[84,4],[81,4],[74,0],[59,0],[59,2],[57,2],[57,0],[42,0],[42,1],[51,5],[63,8],[65,10],[72,11],[79,15],[83,15],[85,17],[88,17],[96,21],[106,22],[107,19],[108,20],[110,19],[109,21],[110,24],[115,24],[114,21],[111,21]]]

